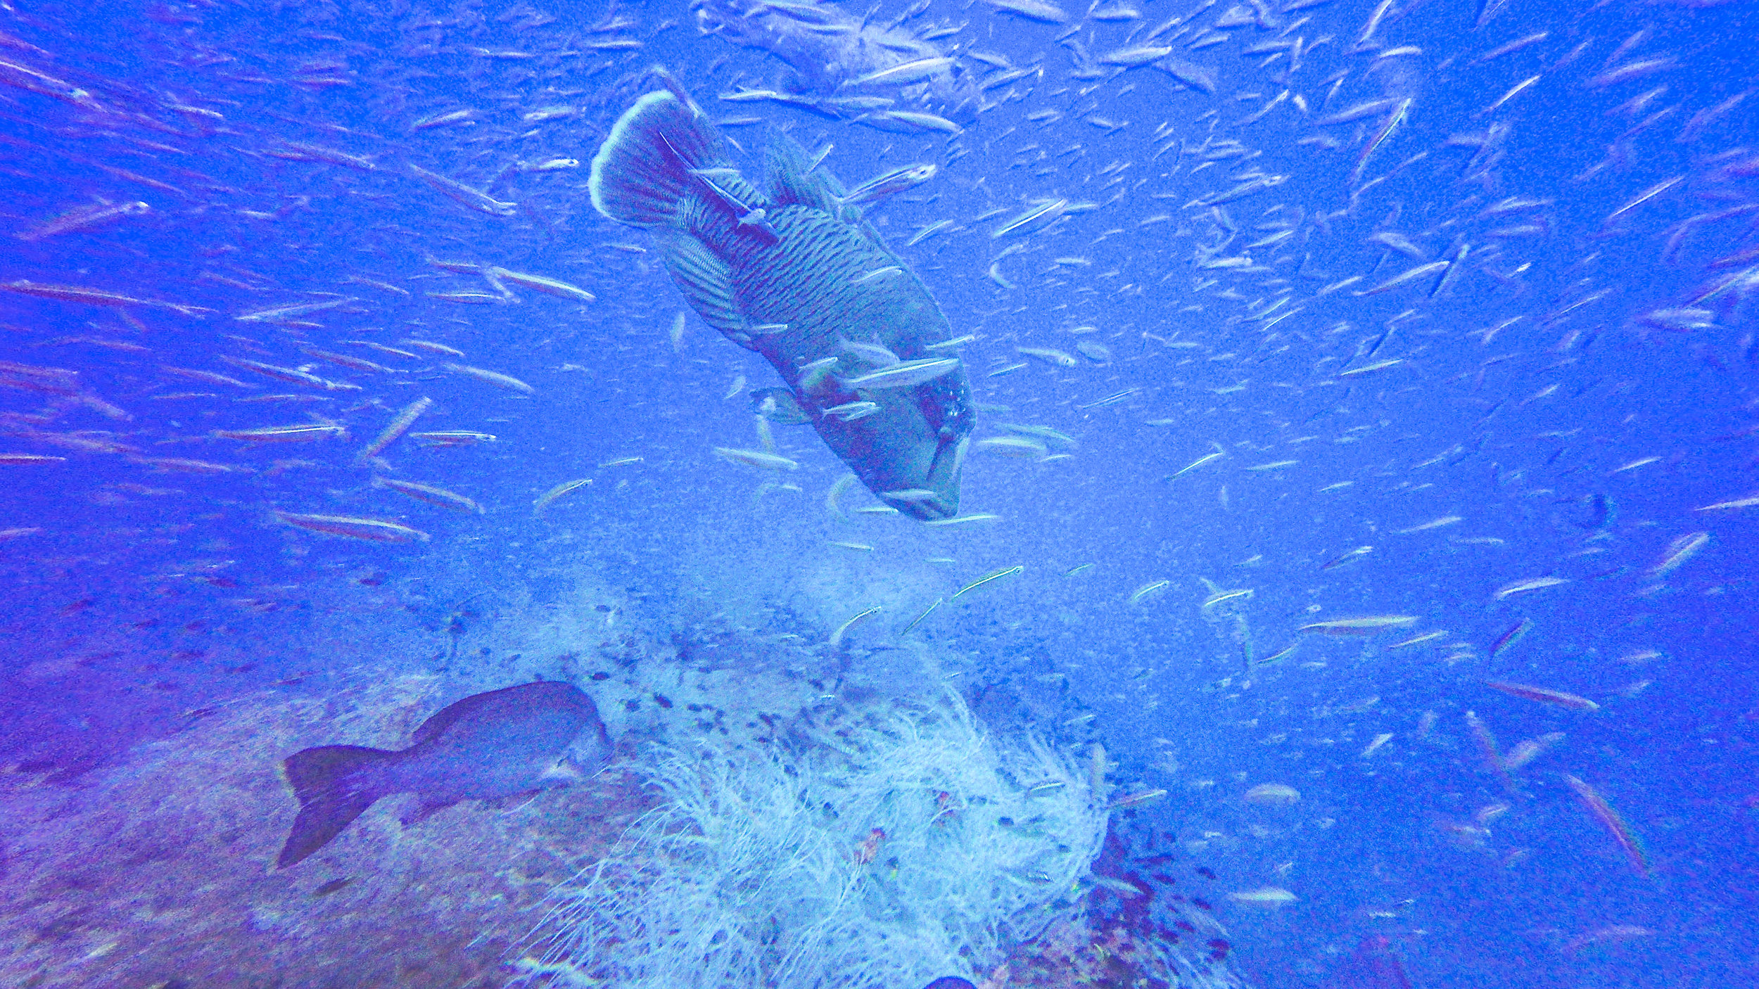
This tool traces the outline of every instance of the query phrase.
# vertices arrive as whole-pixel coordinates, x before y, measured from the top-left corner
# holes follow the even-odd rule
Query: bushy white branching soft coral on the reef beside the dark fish
[[[654,746],[661,804],[556,890],[547,961],[612,985],[895,989],[973,977],[1075,910],[1106,815],[1066,757],[987,736],[952,693],[814,725],[786,751]]]

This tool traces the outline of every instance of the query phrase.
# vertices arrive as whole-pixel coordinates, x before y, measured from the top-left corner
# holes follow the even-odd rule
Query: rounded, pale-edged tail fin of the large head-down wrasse
[[[730,167],[714,123],[670,92],[635,100],[593,155],[588,188],[605,216],[633,227],[677,225],[700,192],[693,169]]]

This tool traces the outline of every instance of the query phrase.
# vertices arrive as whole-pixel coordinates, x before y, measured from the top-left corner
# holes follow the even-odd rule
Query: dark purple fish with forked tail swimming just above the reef
[[[417,794],[420,804],[405,818],[415,824],[459,801],[563,787],[610,755],[593,699],[566,683],[473,693],[422,722],[410,741],[401,751],[325,744],[287,757],[299,817],[274,866],[311,855],[380,797]]]

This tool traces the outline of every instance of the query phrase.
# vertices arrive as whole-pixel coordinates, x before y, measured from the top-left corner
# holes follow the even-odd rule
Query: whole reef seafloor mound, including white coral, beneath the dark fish
[[[503,619],[514,662],[359,665],[322,697],[232,699],[74,781],[11,774],[0,982],[1240,984],[1219,924],[1131,864],[1103,755],[985,723],[931,649],[851,663],[788,634],[586,614]],[[399,750],[447,702],[535,678],[603,713],[596,774],[424,820],[380,799],[276,868],[285,757]]]

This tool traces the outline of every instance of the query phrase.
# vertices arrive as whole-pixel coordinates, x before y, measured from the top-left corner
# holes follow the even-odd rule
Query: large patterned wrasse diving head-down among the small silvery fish
[[[862,484],[881,498],[908,491],[892,503],[916,519],[952,517],[976,415],[964,368],[929,350],[953,336],[929,289],[799,144],[770,143],[763,194],[734,169],[702,107],[667,83],[605,137],[593,206],[660,239],[691,308],[769,359]],[[853,403],[878,408],[827,414]]]

